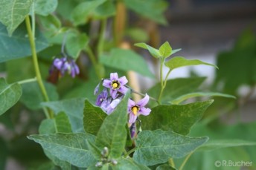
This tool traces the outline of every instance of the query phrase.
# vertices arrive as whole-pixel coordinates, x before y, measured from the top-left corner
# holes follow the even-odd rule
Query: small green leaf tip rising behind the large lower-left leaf
[[[64,112],[60,112],[54,118],[57,132],[59,133],[71,133],[71,124],[68,120],[68,116]]]

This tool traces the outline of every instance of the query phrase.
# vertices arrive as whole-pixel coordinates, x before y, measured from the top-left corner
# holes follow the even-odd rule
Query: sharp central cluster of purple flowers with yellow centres
[[[127,78],[126,76],[118,77],[118,73],[110,73],[110,79],[103,79],[103,91],[97,96],[96,105],[100,106],[106,114],[111,114],[121,99],[123,99],[124,94],[129,90],[127,88]],[[95,94],[98,93],[100,84],[95,88]],[[109,88],[109,92],[108,89]],[[109,95],[110,94],[110,95]],[[150,108],[145,108],[147,102],[149,102],[150,97],[146,94],[143,99],[138,102],[129,99],[127,113],[129,114],[129,123],[135,123],[137,117],[142,114],[147,116],[150,114]]]

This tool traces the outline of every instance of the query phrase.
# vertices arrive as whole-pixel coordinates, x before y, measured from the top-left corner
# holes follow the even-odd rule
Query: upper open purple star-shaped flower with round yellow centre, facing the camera
[[[126,94],[128,88],[124,85],[127,84],[128,80],[126,76],[118,78],[118,73],[110,73],[110,80],[104,79],[103,86],[110,88],[110,95],[113,99],[118,97],[118,92],[121,94]]]

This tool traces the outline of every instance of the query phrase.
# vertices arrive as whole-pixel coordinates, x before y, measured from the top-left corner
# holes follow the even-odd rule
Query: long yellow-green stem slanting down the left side
[[[45,90],[45,85],[42,82],[42,76],[39,70],[39,64],[38,64],[37,55],[36,55],[36,44],[34,41],[33,32],[31,30],[31,21],[29,19],[29,16],[26,16],[25,22],[26,22],[26,27],[28,31],[29,42],[31,44],[31,53],[32,53],[32,59],[33,59],[33,66],[35,68],[35,73],[36,73],[36,79],[39,84],[39,88],[42,92],[42,95],[45,99],[45,102],[48,102],[49,101],[48,94]],[[46,117],[53,117],[53,114],[51,112],[50,112],[50,115],[48,115],[49,113],[45,113],[45,114],[46,114]]]

